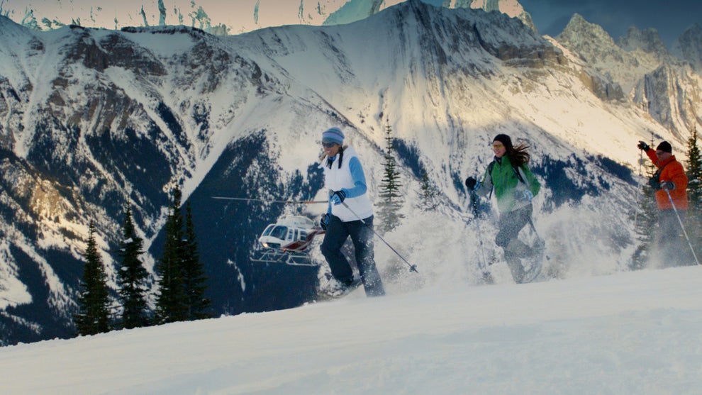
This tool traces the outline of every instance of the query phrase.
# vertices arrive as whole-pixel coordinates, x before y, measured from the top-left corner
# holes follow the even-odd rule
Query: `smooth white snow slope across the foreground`
[[[698,394],[702,268],[443,284],[0,348],[7,394]]]

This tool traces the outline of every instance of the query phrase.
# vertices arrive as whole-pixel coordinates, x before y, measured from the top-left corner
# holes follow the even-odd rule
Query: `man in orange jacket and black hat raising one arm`
[[[689,265],[686,248],[682,240],[682,227],[678,221],[685,219],[687,211],[687,175],[685,169],[672,154],[670,143],[664,141],[652,150],[646,143],[639,141],[637,147],[646,152],[658,168],[651,177],[649,185],[654,189],[659,210],[659,229],[657,247],[659,259],[664,266]],[[677,211],[677,213],[676,213]]]

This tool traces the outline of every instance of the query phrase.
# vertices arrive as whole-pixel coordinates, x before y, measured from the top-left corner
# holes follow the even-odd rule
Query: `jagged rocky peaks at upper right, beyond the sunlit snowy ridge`
[[[579,15],[557,37],[593,74],[618,84],[631,101],[678,137],[687,135],[698,123],[696,114],[702,110],[695,99],[702,80],[690,60],[695,57],[699,37],[694,38],[691,29],[681,39],[685,44],[679,42],[677,51],[687,54],[683,59],[670,54],[656,30],[632,27],[615,43],[601,27]]]

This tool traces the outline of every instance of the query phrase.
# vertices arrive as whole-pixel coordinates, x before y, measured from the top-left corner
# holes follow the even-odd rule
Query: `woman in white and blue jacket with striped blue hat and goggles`
[[[357,286],[351,265],[341,252],[351,237],[366,295],[381,296],[385,291],[373,256],[373,207],[366,194],[366,177],[356,151],[343,143],[344,133],[339,128],[322,133],[324,155],[320,167],[329,189],[329,207],[320,221],[326,230],[322,255],[343,287]]]

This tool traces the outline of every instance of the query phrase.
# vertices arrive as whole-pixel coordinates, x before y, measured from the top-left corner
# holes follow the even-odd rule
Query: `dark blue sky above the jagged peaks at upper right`
[[[574,13],[617,40],[629,26],[655,28],[670,48],[693,23],[702,26],[702,0],[518,0],[541,34],[556,36]]]

